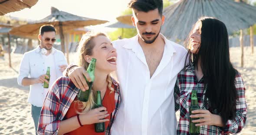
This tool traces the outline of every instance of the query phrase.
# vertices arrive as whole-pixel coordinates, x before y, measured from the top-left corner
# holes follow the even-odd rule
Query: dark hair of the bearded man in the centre
[[[160,16],[163,15],[163,0],[131,0],[128,7],[143,12],[158,9]]]

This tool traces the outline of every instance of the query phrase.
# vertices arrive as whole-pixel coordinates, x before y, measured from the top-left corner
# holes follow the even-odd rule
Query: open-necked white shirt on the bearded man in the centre
[[[114,41],[117,49],[117,76],[121,104],[112,135],[175,135],[174,84],[184,67],[186,49],[164,39],[164,53],[153,76],[138,35]]]

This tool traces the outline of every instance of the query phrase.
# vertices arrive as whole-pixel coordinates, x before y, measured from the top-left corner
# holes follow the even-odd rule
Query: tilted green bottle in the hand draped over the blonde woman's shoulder
[[[80,90],[79,93],[78,93],[78,100],[82,101],[82,102],[87,102],[89,100],[89,95],[91,93],[91,89],[92,89],[92,84],[93,84],[93,81],[94,81],[94,71],[95,71],[95,64],[96,64],[96,59],[95,58],[92,58],[88,68],[87,68],[87,73],[89,74],[89,76],[91,77],[91,82],[89,82],[86,77],[85,77],[85,80],[86,80],[86,83],[88,84],[88,87],[89,89],[88,90],[85,90],[85,91],[82,91]]]

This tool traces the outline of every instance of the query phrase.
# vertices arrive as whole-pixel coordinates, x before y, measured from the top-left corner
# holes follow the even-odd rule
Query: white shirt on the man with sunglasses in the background
[[[67,64],[67,61],[62,51],[52,48],[51,53],[53,54],[56,75],[53,77],[51,76],[50,80],[56,80],[58,77],[62,76],[62,72],[59,71],[59,65]],[[37,78],[43,74],[46,74],[48,66],[49,65],[46,65],[46,59],[43,58],[41,54],[41,49],[39,46],[32,51],[24,53],[20,63],[19,76],[17,78],[18,84],[22,86],[22,80],[24,77]],[[49,88],[50,87],[51,84],[49,84]],[[42,83],[30,85],[28,102],[34,106],[42,107],[47,92],[48,91],[43,88]]]

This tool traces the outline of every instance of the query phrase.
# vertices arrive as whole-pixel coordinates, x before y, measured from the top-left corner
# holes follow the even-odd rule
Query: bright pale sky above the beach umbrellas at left
[[[78,16],[116,21],[115,18],[127,8],[130,0],[38,0],[31,9],[8,13],[7,15],[39,20],[48,16],[51,6]]]

